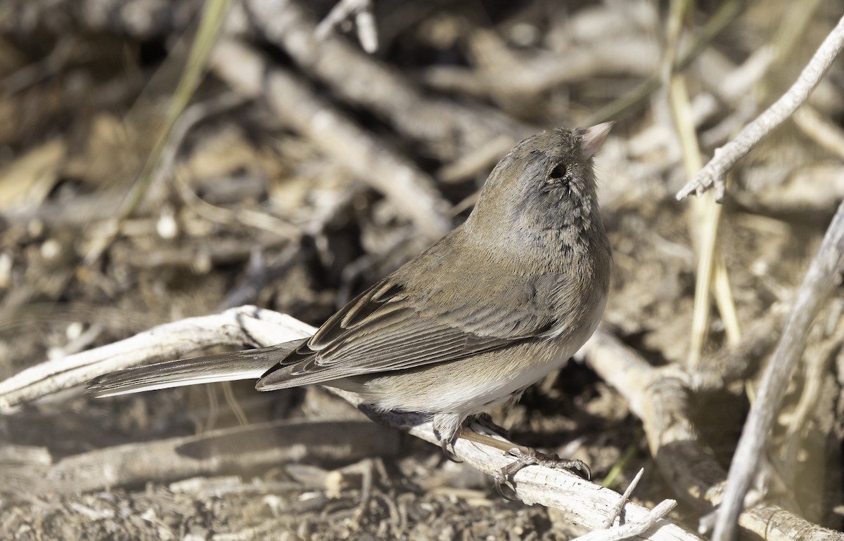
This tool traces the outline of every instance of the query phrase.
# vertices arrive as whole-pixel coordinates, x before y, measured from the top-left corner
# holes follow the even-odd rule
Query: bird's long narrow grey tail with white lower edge
[[[257,379],[306,340],[293,340],[258,350],[235,351],[127,368],[90,380],[88,392],[97,397],[106,397],[197,383]]]

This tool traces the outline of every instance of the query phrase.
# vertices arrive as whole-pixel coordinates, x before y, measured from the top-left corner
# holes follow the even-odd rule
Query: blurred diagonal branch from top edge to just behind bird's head
[[[425,94],[348,40],[334,35],[320,40],[316,22],[295,0],[248,0],[235,4],[231,15],[232,34],[257,32],[289,54],[304,72],[326,83],[333,94],[373,111],[399,133],[424,142],[444,161],[501,135],[518,141],[537,131],[499,111]]]

